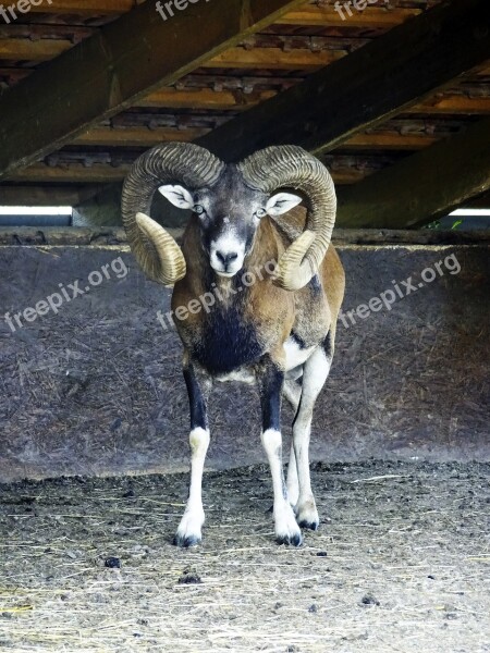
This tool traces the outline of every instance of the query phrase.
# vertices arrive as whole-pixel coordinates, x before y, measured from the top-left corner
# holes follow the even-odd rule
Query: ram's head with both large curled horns
[[[280,258],[274,282],[286,289],[306,285],[330,244],[336,208],[333,182],[302,148],[270,147],[238,164],[225,164],[197,145],[160,145],[134,163],[124,183],[122,212],[136,259],[150,279],[166,285],[183,279],[186,264],[172,236],[148,217],[157,189],[198,215],[209,263],[224,276],[242,269],[260,219],[282,215],[302,199],[308,208],[305,232]]]

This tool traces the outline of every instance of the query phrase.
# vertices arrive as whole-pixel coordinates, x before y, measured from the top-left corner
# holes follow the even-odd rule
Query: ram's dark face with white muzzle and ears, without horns
[[[249,188],[234,165],[228,165],[212,188],[189,190],[161,186],[160,193],[174,206],[191,209],[199,219],[203,246],[211,268],[221,276],[234,276],[255,244],[261,218],[285,213],[302,201],[287,193],[269,197]]]

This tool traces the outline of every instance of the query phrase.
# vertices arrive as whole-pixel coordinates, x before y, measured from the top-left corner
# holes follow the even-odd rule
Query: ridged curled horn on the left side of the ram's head
[[[192,143],[164,143],[133,163],[122,192],[122,219],[131,249],[147,276],[172,285],[185,276],[185,259],[172,236],[148,218],[156,189],[182,183],[195,189],[212,185],[223,170],[207,149]]]

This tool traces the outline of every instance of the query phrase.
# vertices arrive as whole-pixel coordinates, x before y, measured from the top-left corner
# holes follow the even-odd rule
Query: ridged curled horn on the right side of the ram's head
[[[274,283],[286,291],[304,287],[317,273],[332,237],[336,197],[329,171],[293,145],[268,147],[238,168],[246,183],[264,193],[289,186],[307,196],[305,232],[284,251],[274,272]]]

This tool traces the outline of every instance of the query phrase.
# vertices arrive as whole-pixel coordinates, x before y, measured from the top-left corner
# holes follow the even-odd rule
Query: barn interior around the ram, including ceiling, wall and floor
[[[335,182],[347,288],[311,438],[331,521],[301,552],[272,542],[240,385],[210,406],[209,539],[171,546],[181,346],[120,210],[163,141],[299,145]],[[489,223],[488,0],[0,5],[0,644],[488,651]]]

